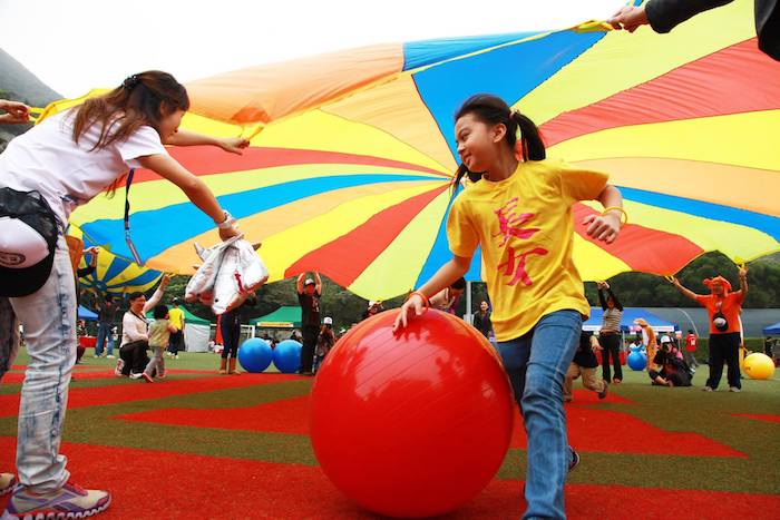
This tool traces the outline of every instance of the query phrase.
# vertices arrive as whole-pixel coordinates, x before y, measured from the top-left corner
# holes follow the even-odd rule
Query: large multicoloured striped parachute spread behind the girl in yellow
[[[780,67],[758,51],[752,19],[752,2],[738,0],[670,35],[585,23],[228,72],[187,85],[184,127],[251,136],[251,148],[170,151],[263,242],[271,281],[318,269],[382,300],[449,258],[452,115],[493,92],[540,126],[549,156],[606,170],[621,187],[631,223],[615,244],[577,227],[586,279],[672,274],[715,249],[750,261],[780,251]],[[191,273],[192,242],[216,241],[209,219],[152,173],[136,175],[130,200],[150,267]],[[74,220],[129,258],[123,206],[98,197]],[[577,222],[595,208],[578,205]]]

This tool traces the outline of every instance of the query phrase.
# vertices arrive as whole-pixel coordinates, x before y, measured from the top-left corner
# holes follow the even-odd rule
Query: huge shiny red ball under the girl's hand
[[[312,389],[322,470],[359,506],[391,517],[468,502],[501,465],[514,401],[500,357],[466,322],[428,311],[399,335],[398,310],[339,340]]]

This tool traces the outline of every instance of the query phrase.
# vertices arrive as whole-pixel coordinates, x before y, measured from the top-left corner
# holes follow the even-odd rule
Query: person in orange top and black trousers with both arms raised
[[[706,308],[710,316],[710,377],[706,380],[704,391],[718,390],[718,384],[723,375],[723,361],[728,365],[729,391],[740,392],[740,343],[742,322],[740,312],[742,302],[748,294],[748,269],[740,268],[740,290],[731,292],[731,284],[723,276],[706,278],[704,285],[710,288],[710,294],[696,294],[684,287],[680,281],[672,277],[672,284],[682,294],[695,301]]]

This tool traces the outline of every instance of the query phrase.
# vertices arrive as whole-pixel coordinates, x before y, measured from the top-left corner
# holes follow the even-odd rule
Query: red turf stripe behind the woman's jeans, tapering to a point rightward
[[[181,381],[162,380],[152,384],[144,382],[144,380],[138,380],[138,384],[70,389],[68,392],[68,409],[130,401],[146,401],[150,399],[168,398],[170,395],[213,392],[215,390],[237,389],[299,379],[302,377],[289,374],[244,373],[241,376],[215,375],[212,377],[194,377]],[[0,395],[0,418],[16,415],[18,410],[19,394]]]

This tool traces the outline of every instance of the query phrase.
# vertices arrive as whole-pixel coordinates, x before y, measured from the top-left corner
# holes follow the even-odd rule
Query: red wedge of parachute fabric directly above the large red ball
[[[412,218],[448,188],[445,185],[431,189],[379,212],[345,235],[299,258],[287,267],[284,276],[304,271],[322,271],[344,287],[349,286],[388,248]],[[343,262],[344,251],[350,252],[349,263]]]

